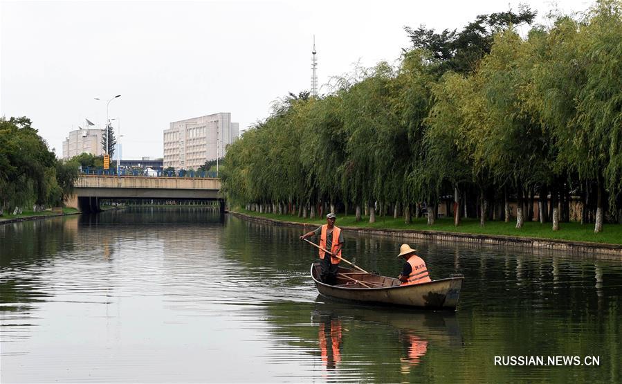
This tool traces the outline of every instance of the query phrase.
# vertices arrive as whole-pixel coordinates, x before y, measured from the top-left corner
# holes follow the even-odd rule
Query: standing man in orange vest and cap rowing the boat
[[[324,284],[335,285],[337,280],[337,268],[341,261],[341,248],[343,247],[343,234],[341,229],[335,226],[337,217],[334,213],[326,215],[326,223],[316,230],[307,232],[300,237],[301,240],[313,235],[320,235],[320,248],[330,250],[331,257],[324,257],[324,250],[320,249],[320,280]],[[334,241],[333,241],[334,240]]]

